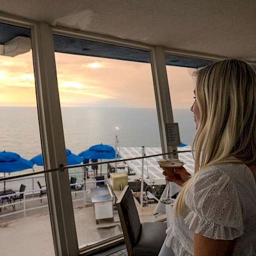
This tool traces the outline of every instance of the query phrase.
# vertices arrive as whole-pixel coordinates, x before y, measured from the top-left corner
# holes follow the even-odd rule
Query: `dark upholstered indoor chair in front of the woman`
[[[140,218],[129,186],[116,202],[129,256],[158,255],[166,238],[166,223],[145,222]]]

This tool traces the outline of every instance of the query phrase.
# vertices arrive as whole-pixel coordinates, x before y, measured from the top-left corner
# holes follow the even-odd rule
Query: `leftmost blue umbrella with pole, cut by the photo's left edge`
[[[8,172],[17,172],[21,170],[26,170],[33,168],[33,163],[28,161],[18,154],[13,152],[0,152],[0,172],[5,173]],[[5,180],[4,180],[4,191],[5,191]]]

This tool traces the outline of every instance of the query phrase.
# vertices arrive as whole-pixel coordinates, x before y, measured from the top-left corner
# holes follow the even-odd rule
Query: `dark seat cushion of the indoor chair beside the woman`
[[[138,244],[134,247],[135,256],[158,255],[166,237],[166,223],[141,223]]]

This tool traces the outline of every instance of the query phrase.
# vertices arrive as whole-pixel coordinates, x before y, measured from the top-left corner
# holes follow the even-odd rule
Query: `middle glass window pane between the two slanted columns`
[[[142,146],[161,152],[149,52],[57,35],[54,45],[66,148],[74,154],[101,143],[113,148],[109,157],[85,152],[84,163],[115,159],[115,151],[123,158],[140,157]],[[146,154],[152,152],[146,149]],[[93,200],[98,193],[108,194],[106,179],[110,188],[124,188],[125,181],[111,184],[109,177],[115,171],[128,173],[129,185],[140,191],[141,169],[131,166],[122,162],[69,170],[79,247],[122,233],[115,202]],[[160,179],[150,168],[148,159],[145,190]],[[161,179],[164,182],[163,175]],[[156,220],[154,207],[141,221]]]

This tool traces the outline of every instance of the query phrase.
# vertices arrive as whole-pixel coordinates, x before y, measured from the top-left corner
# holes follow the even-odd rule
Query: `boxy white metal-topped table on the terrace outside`
[[[95,221],[113,218],[113,196],[108,187],[92,188],[92,203],[95,212]]]

